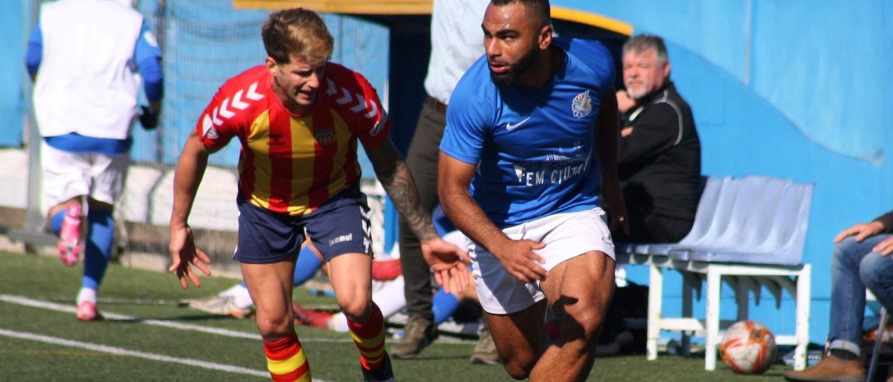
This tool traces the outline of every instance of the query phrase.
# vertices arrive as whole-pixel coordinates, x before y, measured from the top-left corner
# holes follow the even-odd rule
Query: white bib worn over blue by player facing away
[[[40,135],[125,139],[137,115],[133,62],[143,16],[115,1],[61,0],[40,10],[43,54],[34,85]]]

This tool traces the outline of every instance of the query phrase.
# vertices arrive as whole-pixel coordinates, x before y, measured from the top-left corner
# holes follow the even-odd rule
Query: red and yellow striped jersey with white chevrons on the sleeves
[[[257,66],[228,80],[199,118],[205,146],[238,137],[239,188],[250,203],[271,212],[305,215],[360,178],[357,138],[375,147],[390,121],[375,89],[362,75],[327,63],[313,110],[288,112]]]

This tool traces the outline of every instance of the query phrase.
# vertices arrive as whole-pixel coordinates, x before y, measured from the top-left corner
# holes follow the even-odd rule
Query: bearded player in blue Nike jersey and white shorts
[[[596,41],[552,36],[547,0],[493,0],[485,57],[455,88],[438,195],[470,237],[473,273],[513,378],[583,380],[613,295],[626,225],[614,67]],[[430,263],[437,263],[431,259]],[[544,345],[547,303],[560,335]]]

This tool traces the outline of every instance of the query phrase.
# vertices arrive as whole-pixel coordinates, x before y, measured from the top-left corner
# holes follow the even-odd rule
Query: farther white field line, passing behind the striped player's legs
[[[17,303],[20,305],[30,306],[33,308],[43,308],[43,309],[48,309],[51,311],[65,311],[65,312],[69,312],[69,313],[74,313],[75,311],[77,311],[77,309],[71,305],[63,305],[61,303],[47,303],[46,301],[34,300],[34,299],[30,299],[28,297],[22,297],[21,295],[0,295],[0,301],[4,301],[6,303]],[[256,340],[261,339],[261,336],[258,334],[240,332],[238,330],[230,330],[230,329],[224,329],[224,328],[210,328],[210,327],[203,327],[201,325],[184,324],[184,323],[173,322],[173,321],[141,319],[141,318],[135,317],[135,316],[112,313],[112,312],[107,312],[107,311],[102,311],[102,314],[106,319],[111,319],[111,320],[132,321],[132,322],[138,322],[138,323],[146,324],[146,325],[153,325],[156,327],[174,328],[174,329],[179,329],[179,330],[192,330],[192,331],[197,331],[197,332],[202,332],[202,333],[207,333],[207,334],[213,334],[213,335],[217,335],[217,336],[231,336],[231,337],[237,337],[237,338],[247,338],[247,339],[256,339]],[[308,342],[308,343],[310,343],[310,342],[346,343],[346,342],[353,342],[353,341],[350,339],[347,339],[347,338],[339,339],[339,338],[303,338],[302,337],[301,342],[302,343],[304,343],[304,342]]]

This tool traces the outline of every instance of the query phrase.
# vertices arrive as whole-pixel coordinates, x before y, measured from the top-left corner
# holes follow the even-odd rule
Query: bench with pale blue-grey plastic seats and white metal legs
[[[661,330],[705,337],[705,370],[715,370],[722,281],[735,291],[738,320],[747,319],[748,293],[759,304],[763,286],[780,304],[783,292],[797,303],[795,333],[775,333],[778,345],[796,345],[794,369],[806,366],[809,343],[809,264],[801,262],[813,195],[812,184],[749,176],[705,180],[689,235],[675,244],[616,245],[618,262],[647,264],[649,271],[647,359],[657,358]],[[663,269],[683,276],[682,314],[664,317]],[[706,281],[706,320],[692,317],[692,295]]]

